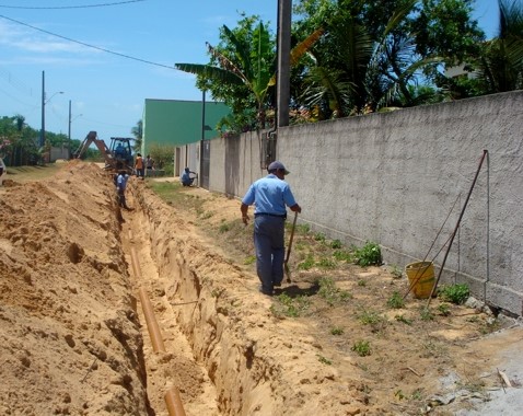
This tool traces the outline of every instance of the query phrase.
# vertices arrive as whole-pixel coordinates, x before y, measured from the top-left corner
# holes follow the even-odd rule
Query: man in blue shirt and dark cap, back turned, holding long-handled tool
[[[269,174],[248,188],[242,199],[242,219],[248,223],[248,206],[254,209],[254,245],[256,250],[256,271],[262,281],[260,291],[271,296],[275,286],[283,280],[284,222],[287,207],[301,212],[284,177],[290,172],[281,162],[275,161],[267,167]]]

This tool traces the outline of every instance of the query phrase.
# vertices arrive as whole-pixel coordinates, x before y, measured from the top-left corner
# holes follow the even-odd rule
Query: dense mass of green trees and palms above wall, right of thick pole
[[[473,0],[302,0],[294,33],[326,35],[302,69],[297,105],[319,119],[414,106],[450,96],[443,70],[477,56]]]

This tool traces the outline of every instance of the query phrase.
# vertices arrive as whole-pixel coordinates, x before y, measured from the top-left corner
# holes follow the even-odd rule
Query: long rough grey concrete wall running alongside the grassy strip
[[[300,221],[384,261],[434,261],[437,276],[488,151],[441,282],[523,314],[523,92],[281,128]],[[243,196],[265,172],[256,134],[211,142],[210,190]]]

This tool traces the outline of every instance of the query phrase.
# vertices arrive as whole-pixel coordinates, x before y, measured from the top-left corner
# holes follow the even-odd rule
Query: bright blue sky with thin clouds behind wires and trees
[[[83,139],[90,130],[102,139],[130,137],[146,99],[201,100],[194,76],[172,69],[175,62],[207,63],[206,42],[216,45],[219,27],[234,27],[239,12],[258,14],[276,26],[277,4],[277,0],[0,0],[0,116],[22,114],[39,129],[45,71],[47,131],[68,134],[71,102],[73,139]],[[476,4],[474,18],[493,36],[497,0]]]

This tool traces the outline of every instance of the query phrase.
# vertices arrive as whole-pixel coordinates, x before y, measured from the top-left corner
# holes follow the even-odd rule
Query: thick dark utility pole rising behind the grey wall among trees
[[[291,21],[292,0],[278,0],[278,74],[276,85],[276,127],[289,126],[291,95]]]

